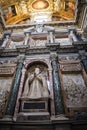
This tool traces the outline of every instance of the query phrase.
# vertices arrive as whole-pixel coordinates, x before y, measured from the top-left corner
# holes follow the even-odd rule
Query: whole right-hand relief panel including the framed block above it
[[[80,63],[60,64],[65,112],[68,116],[87,111],[87,86]]]

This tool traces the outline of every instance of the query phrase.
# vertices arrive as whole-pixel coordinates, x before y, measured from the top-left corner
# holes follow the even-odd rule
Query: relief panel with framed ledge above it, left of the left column
[[[0,66],[0,118],[3,118],[12,88],[16,66]]]

